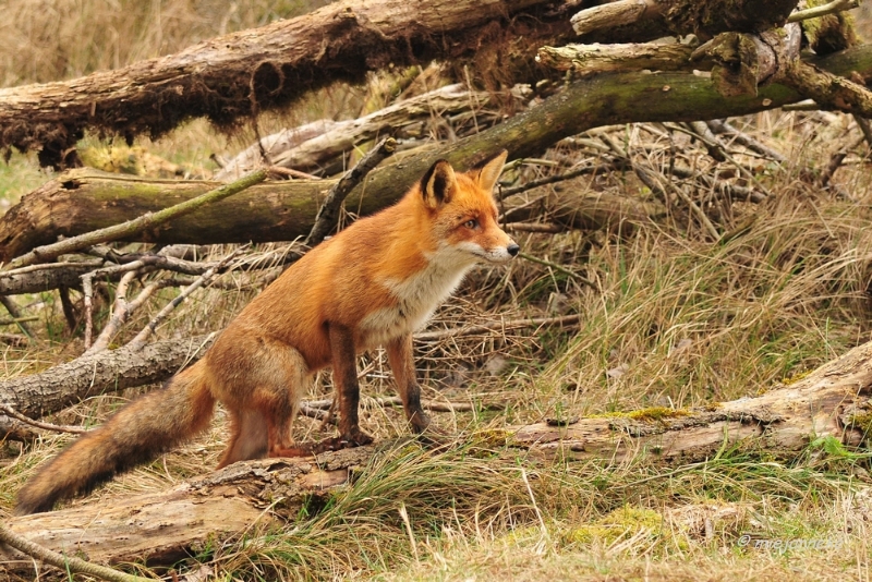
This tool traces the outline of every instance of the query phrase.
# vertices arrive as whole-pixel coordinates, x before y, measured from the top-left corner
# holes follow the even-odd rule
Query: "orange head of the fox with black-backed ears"
[[[461,263],[506,263],[520,246],[499,228],[494,186],[508,151],[502,150],[467,172],[438,160],[421,179],[421,196],[439,252]]]

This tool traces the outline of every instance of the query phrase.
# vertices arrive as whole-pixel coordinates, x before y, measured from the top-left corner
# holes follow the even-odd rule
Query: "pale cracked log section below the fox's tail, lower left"
[[[168,492],[13,518],[5,525],[44,547],[83,555],[88,561],[144,559],[149,565],[168,565],[216,536],[227,538],[255,524],[293,519],[307,497],[326,497],[348,483],[350,470],[366,464],[376,449],[371,445],[325,453],[317,461],[235,463]],[[274,505],[278,499],[281,502]],[[33,570],[31,558],[0,547],[0,572],[28,570]]]

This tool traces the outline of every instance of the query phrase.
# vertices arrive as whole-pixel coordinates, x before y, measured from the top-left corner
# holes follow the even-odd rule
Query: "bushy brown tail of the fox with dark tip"
[[[87,493],[206,428],[215,398],[205,383],[205,365],[201,360],[81,436],[19,492],[15,513],[49,511],[57,501]]]

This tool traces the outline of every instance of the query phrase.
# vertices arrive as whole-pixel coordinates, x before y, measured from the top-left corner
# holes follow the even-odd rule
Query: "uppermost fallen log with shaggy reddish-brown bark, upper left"
[[[2,89],[0,147],[38,149],[43,165],[60,167],[86,129],[130,141],[161,135],[195,117],[229,128],[332,82],[361,82],[390,63],[472,60],[496,80],[520,78],[538,46],[571,35],[558,4],[335,2],[117,71]]]

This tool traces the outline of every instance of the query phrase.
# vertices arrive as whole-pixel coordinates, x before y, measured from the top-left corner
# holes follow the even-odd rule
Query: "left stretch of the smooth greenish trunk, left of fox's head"
[[[171,220],[135,237],[144,242],[291,241],[305,237],[320,201],[336,180],[294,180],[257,184],[226,204],[215,204],[186,218]],[[155,213],[198,196],[221,182],[149,180],[77,169],[65,172],[26,195],[0,218],[0,260],[58,237],[74,237],[123,222],[123,217]],[[371,214],[395,202],[398,189],[356,189],[349,207]],[[171,243],[170,243],[171,244]]]

